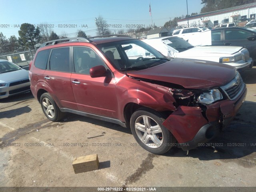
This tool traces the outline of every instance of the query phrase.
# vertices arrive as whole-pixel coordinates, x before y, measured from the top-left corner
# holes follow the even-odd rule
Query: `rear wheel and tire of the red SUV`
[[[40,97],[40,104],[44,115],[51,121],[61,120],[65,113],[61,112],[56,102],[49,93],[44,93]]]

